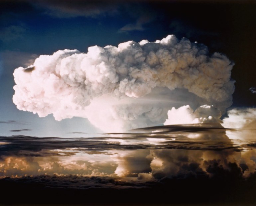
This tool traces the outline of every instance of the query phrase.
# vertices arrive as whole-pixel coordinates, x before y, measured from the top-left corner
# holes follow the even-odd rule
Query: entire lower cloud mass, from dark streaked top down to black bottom
[[[191,124],[95,138],[0,137],[0,203],[255,204],[255,141],[226,131]]]

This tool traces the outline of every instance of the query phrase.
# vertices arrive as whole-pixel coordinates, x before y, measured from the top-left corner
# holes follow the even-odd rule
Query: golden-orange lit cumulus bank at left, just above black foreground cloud
[[[0,178],[5,176],[24,176],[41,174],[59,175],[95,175],[95,176],[115,176],[114,172],[117,164],[110,158],[105,161],[98,161],[92,155],[82,157],[73,153],[61,151],[64,156],[58,153],[52,154],[40,152],[42,156],[27,156],[20,153],[19,156],[7,156],[0,160]],[[101,155],[101,158],[104,155]],[[97,160],[97,161],[95,161]]]

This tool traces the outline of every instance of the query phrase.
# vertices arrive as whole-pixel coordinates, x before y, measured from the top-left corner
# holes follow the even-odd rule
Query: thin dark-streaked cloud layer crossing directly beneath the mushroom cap
[[[158,131],[152,132],[154,130]],[[71,157],[78,153],[112,156],[117,153],[117,150],[132,151],[163,148],[202,151],[224,151],[226,149],[232,151],[242,150],[242,146],[233,145],[230,139],[227,138],[224,128],[213,127],[210,125],[159,126],[143,129],[138,133],[115,134],[115,137],[113,137],[113,134],[104,136],[105,137],[70,139],[54,137],[37,138],[23,135],[0,137],[0,158],[5,156]],[[130,157],[133,156],[134,158],[129,158],[129,161],[134,159],[136,162],[136,156],[138,156],[138,154],[143,156],[146,152],[130,154]],[[117,159],[119,161],[119,158]],[[141,159],[143,160],[143,158]],[[147,166],[141,167],[147,168]],[[122,166],[121,168],[124,167]],[[136,168],[136,165],[134,168]],[[145,171],[142,170],[133,173],[138,172]]]

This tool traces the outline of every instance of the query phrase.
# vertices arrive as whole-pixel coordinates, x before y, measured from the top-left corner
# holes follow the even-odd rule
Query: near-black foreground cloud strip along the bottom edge
[[[234,167],[233,170],[237,168]],[[146,183],[116,181],[106,177],[75,175],[4,178],[1,202],[4,203],[62,203],[62,204],[147,204],[204,203],[221,205],[253,205],[255,203],[255,175],[244,180],[234,171],[218,168],[222,179],[164,178]],[[224,178],[223,178],[224,177]],[[235,178],[235,179],[234,179]],[[77,187],[73,188],[76,185]],[[79,187],[79,189],[78,189]],[[8,193],[16,198],[5,198]],[[42,198],[44,196],[44,198]]]

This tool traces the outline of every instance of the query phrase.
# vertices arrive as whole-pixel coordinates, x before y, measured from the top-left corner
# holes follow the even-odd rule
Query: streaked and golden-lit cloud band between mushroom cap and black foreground
[[[236,164],[247,177],[256,169],[255,143],[230,140],[226,130],[238,132],[194,124],[94,138],[1,137],[0,176],[72,174],[148,181],[191,172],[210,176],[207,167],[217,162],[227,170],[229,163]]]

